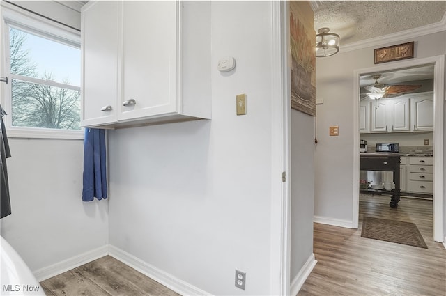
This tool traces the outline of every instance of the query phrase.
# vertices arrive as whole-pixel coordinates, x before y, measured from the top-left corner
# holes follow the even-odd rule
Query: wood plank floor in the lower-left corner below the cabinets
[[[112,256],[86,263],[40,285],[47,296],[179,296]]]

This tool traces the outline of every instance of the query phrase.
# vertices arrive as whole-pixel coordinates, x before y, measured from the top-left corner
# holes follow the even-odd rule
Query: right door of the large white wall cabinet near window
[[[122,1],[123,98],[119,120],[178,111],[178,2]],[[127,104],[134,100],[135,104]]]

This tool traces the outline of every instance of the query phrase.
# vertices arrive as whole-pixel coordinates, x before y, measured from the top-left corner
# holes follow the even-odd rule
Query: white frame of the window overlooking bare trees
[[[7,114],[12,114],[12,93],[11,81],[18,79],[30,83],[45,84],[61,88],[72,89],[81,92],[80,87],[70,86],[69,84],[61,84],[56,81],[45,81],[42,79],[34,79],[33,77],[24,77],[10,73],[10,56],[9,55],[9,29],[18,29],[26,33],[31,33],[42,38],[47,38],[64,45],[81,49],[80,31],[71,29],[57,22],[47,20],[39,15],[34,15],[26,10],[21,10],[15,6],[5,5],[1,1],[1,24],[0,34],[3,39],[3,47],[0,49],[1,61],[4,61],[0,68],[1,77],[8,77],[8,83],[0,84],[0,92],[4,95],[0,96],[0,103]],[[8,3],[6,3],[8,4]],[[81,55],[82,59],[82,55]],[[82,71],[82,69],[81,69]],[[81,75],[81,73],[79,73]],[[81,82],[82,83],[82,82]],[[82,93],[82,92],[81,92]],[[82,101],[82,98],[81,98]],[[81,102],[82,104],[82,102]],[[80,108],[79,120],[82,118],[82,106]],[[84,139],[84,128],[81,130],[59,130],[43,127],[16,127],[12,125],[12,116],[5,116],[6,129],[10,138],[39,138],[39,139]]]

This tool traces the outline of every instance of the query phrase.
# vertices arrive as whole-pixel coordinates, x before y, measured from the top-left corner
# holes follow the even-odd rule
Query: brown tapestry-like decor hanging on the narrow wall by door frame
[[[316,33],[307,1],[290,1],[291,108],[316,116]]]

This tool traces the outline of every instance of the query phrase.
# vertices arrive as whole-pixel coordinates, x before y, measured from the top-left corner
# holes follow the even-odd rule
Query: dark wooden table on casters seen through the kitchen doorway
[[[395,189],[392,190],[390,208],[397,208],[401,187],[399,184],[399,164],[401,157],[399,153],[360,153],[361,171],[392,171]]]

